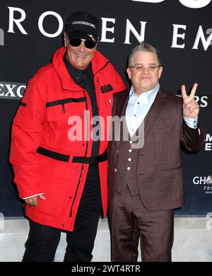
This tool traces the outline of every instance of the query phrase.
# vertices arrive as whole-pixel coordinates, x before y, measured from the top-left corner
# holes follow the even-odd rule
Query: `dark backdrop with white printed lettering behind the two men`
[[[0,2],[0,213],[22,217],[23,202],[8,162],[11,123],[25,86],[63,45],[66,19],[73,11],[100,18],[98,50],[123,77],[130,50],[146,40],[163,61],[160,85],[174,94],[199,84],[196,101],[205,144],[198,154],[182,151],[186,204],[180,215],[212,212],[212,1],[211,0],[1,0]],[[158,183],[160,185],[160,183]],[[151,189],[151,187],[150,187]]]

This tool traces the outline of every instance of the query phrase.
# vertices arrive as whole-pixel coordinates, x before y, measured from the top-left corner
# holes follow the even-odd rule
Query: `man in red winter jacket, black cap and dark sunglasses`
[[[65,47],[29,81],[13,120],[10,160],[30,222],[23,261],[53,261],[61,231],[65,261],[92,259],[98,220],[107,212],[104,122],[113,94],[125,89],[96,50],[98,30],[90,13],[69,16]]]

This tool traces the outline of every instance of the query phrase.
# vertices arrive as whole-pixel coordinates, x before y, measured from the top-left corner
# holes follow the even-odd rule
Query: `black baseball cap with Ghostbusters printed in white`
[[[84,38],[97,42],[100,22],[86,11],[77,11],[69,16],[65,31],[69,39]]]

